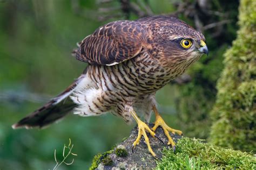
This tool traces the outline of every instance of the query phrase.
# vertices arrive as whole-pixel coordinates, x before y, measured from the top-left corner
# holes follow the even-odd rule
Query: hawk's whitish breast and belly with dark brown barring
[[[92,81],[80,84],[71,98],[77,104],[75,114],[97,116],[112,112],[131,122],[131,109],[149,120],[152,104],[156,104],[156,90],[170,81],[166,72],[146,51],[136,58],[114,66],[87,67],[86,76]],[[134,106],[134,107],[133,107]]]

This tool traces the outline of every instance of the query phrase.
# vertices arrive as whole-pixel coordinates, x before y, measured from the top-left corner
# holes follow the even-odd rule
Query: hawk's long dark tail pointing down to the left
[[[51,101],[43,105],[43,107],[24,117],[18,123],[12,125],[12,128],[43,128],[44,126],[56,122],[66,116],[73,108],[76,107],[76,104],[73,103],[69,96],[77,88],[78,84],[84,80],[85,73],[86,69],[84,74],[78,77],[78,79],[63,91],[63,93],[53,98]]]

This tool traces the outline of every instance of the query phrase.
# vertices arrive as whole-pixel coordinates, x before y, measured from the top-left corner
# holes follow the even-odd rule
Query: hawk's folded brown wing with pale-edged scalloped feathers
[[[136,56],[146,31],[138,22],[120,20],[99,27],[78,44],[76,58],[91,65],[115,65]]]

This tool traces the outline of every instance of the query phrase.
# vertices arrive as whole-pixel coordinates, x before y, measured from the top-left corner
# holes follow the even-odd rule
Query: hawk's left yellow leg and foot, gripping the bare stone
[[[134,147],[136,145],[139,144],[139,140],[140,140],[140,137],[144,136],[144,139],[145,139],[145,142],[147,144],[147,148],[149,149],[150,153],[153,155],[153,157],[155,158],[158,158],[156,153],[154,153],[154,151],[152,150],[151,146],[150,146],[150,143],[149,143],[149,138],[147,137],[147,134],[146,134],[146,131],[148,131],[152,137],[157,137],[156,136],[156,133],[154,133],[150,128],[149,126],[142,122],[139,117],[136,115],[136,112],[134,111],[131,111],[131,115],[132,117],[136,120],[137,124],[138,124],[138,137],[137,139],[134,141],[134,143],[132,144],[132,151],[134,149]],[[158,138],[158,137],[157,137]],[[159,139],[159,138],[158,138]]]

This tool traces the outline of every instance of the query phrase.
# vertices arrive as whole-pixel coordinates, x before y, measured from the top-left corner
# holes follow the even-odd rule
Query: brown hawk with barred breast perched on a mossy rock
[[[158,138],[154,131],[161,126],[167,145],[175,150],[170,132],[182,132],[170,128],[160,116],[156,91],[183,74],[201,55],[208,55],[203,34],[176,17],[150,16],[107,23],[77,46],[73,56],[87,63],[82,75],[12,128],[44,128],[70,111],[84,117],[111,113],[127,124],[137,122],[138,137],[132,149],[143,136],[149,152],[157,158],[146,132]],[[152,112],[156,121],[151,129]]]

